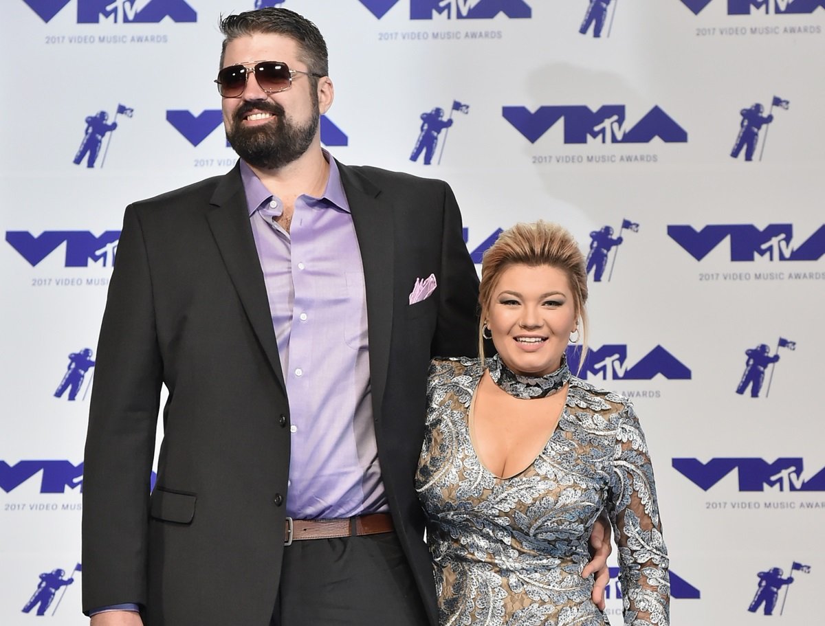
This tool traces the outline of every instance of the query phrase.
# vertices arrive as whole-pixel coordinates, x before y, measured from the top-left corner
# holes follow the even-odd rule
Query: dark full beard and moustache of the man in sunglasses
[[[286,119],[284,107],[272,101],[244,102],[232,116],[226,139],[240,158],[252,167],[277,170],[297,160],[312,144],[318,131],[320,111],[314,104],[312,119],[298,126]],[[274,115],[265,125],[245,127],[243,118],[252,111]]]

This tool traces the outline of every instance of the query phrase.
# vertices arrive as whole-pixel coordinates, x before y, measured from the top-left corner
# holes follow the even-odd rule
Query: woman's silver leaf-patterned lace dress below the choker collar
[[[479,360],[434,360],[416,489],[427,511],[442,626],[606,626],[590,598],[593,523],[619,546],[628,626],[667,626],[670,586],[653,468],[632,405],[571,376],[566,407],[526,470],[498,478],[469,437]]]

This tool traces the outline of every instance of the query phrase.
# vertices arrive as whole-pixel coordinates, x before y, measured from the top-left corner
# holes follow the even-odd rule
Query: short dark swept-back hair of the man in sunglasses
[[[224,35],[224,45],[220,50],[220,67],[224,67],[224,54],[230,41],[246,35],[272,33],[285,35],[299,45],[301,60],[307,64],[310,73],[327,76],[329,61],[327,43],[321,31],[311,21],[295,11],[281,7],[264,7],[255,11],[245,11],[237,15],[221,18],[220,31]],[[283,59],[267,59],[281,61]],[[317,78],[310,77],[313,81]]]

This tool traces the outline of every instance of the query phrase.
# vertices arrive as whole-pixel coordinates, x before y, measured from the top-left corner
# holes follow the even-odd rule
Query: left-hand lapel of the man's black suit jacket
[[[247,313],[249,323],[261,343],[278,383],[286,393],[278,342],[269,311],[261,261],[258,260],[255,239],[249,225],[246,195],[243,192],[238,165],[215,188],[212,208],[206,219],[218,244],[229,277]]]

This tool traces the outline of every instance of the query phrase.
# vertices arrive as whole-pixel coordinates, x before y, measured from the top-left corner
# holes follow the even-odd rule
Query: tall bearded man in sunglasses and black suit
[[[83,610],[94,626],[436,624],[413,476],[431,355],[476,341],[458,206],[442,181],[321,148],[334,92],[314,24],[269,7],[221,26],[238,165],[125,213]]]

